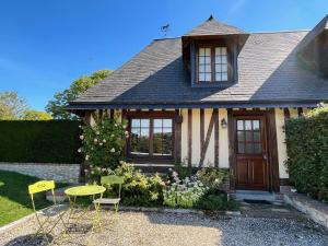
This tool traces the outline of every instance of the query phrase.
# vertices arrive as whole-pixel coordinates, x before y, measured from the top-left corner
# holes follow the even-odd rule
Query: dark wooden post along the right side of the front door
[[[279,160],[278,160],[278,143],[277,143],[277,128],[276,128],[276,114],[274,109],[268,110],[268,150],[269,150],[269,161],[270,161],[270,179],[271,189],[276,192],[280,191],[279,181]]]

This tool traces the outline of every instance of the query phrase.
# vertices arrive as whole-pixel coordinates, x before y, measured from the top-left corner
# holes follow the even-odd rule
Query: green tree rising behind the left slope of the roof
[[[77,119],[78,116],[68,113],[65,107],[70,101],[74,101],[89,87],[104,80],[112,73],[110,70],[99,70],[92,75],[83,75],[73,81],[69,89],[54,95],[46,106],[46,112],[51,114],[54,119]]]

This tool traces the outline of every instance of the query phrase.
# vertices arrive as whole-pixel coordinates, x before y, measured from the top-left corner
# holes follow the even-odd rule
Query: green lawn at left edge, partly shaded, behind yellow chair
[[[39,180],[14,172],[0,171],[0,226],[19,220],[33,212],[27,186]],[[56,183],[56,187],[66,184]],[[51,202],[46,200],[45,194],[36,197],[37,209],[46,208]]]

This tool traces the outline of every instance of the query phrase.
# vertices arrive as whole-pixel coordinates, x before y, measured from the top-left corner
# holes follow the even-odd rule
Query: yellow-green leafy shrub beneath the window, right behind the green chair
[[[160,175],[155,174],[148,177],[125,162],[114,173],[125,178],[121,189],[121,199],[125,206],[150,207],[163,204],[165,184]]]

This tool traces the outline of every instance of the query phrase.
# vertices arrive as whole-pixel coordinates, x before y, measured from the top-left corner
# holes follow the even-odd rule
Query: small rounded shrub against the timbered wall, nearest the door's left
[[[211,189],[222,189],[229,181],[229,175],[227,168],[204,167],[197,172],[199,180]]]

